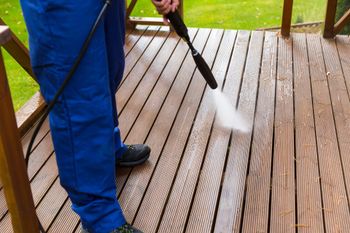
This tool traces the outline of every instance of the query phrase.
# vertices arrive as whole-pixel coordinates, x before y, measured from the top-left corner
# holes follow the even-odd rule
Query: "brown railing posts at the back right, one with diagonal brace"
[[[336,36],[344,26],[350,22],[350,9],[335,23],[335,16],[337,11],[337,0],[328,0],[326,8],[326,16],[324,20],[324,38],[333,38]],[[281,25],[281,34],[284,37],[290,35],[290,28],[292,22],[293,0],[284,0],[283,16]]]

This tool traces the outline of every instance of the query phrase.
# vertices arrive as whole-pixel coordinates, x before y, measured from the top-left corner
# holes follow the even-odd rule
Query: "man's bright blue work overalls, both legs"
[[[108,233],[125,219],[116,198],[120,139],[115,91],[124,70],[124,2],[113,0],[74,77],[50,113],[60,181],[83,227]],[[50,102],[77,58],[103,0],[21,0],[30,56]]]

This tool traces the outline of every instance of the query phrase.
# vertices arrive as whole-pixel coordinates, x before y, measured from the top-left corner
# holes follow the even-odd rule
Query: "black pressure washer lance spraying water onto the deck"
[[[188,29],[182,20],[179,12],[176,10],[175,12],[169,12],[166,16],[169,19],[171,25],[175,29],[176,33],[188,44],[191,49],[192,57],[194,62],[197,65],[198,70],[201,72],[203,78],[207,81],[208,85],[212,89],[216,89],[218,84],[214,78],[213,73],[211,72],[208,64],[203,59],[202,55],[193,47],[191,43],[190,36],[188,35]]]

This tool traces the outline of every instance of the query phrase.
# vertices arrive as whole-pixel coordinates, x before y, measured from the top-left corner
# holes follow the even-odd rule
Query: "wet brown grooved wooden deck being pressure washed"
[[[126,143],[149,161],[118,169],[118,197],[144,232],[349,232],[350,39],[191,29],[232,104],[253,126],[222,128],[187,46],[165,28],[128,32],[117,94]],[[27,147],[31,132],[22,140]],[[37,213],[79,232],[46,123],[30,159]],[[0,190],[0,232],[12,232]]]

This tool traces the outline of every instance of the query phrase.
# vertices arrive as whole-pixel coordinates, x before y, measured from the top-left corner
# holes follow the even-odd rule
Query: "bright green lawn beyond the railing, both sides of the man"
[[[123,0],[121,0],[123,1]],[[326,0],[295,0],[293,22],[323,19]],[[283,0],[184,0],[185,21],[191,27],[254,30],[278,26],[281,22]],[[139,0],[134,16],[157,16],[150,0]],[[27,33],[19,0],[0,0],[0,17],[26,45]],[[18,110],[38,86],[3,51],[15,109]]]

